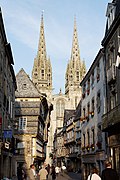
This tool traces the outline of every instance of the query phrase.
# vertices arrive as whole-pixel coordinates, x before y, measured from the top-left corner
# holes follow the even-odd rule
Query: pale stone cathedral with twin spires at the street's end
[[[71,57],[67,64],[65,74],[65,93],[63,94],[60,90],[58,94],[53,94],[52,65],[50,58],[47,58],[44,19],[42,14],[38,51],[32,70],[32,81],[38,91],[45,94],[47,100],[53,104],[46,148],[46,163],[51,164],[51,158],[49,156],[53,151],[54,133],[56,129],[59,131],[63,127],[64,110],[75,110],[81,99],[80,81],[83,79],[85,73],[86,66],[85,62],[80,59],[76,19],[74,19]]]

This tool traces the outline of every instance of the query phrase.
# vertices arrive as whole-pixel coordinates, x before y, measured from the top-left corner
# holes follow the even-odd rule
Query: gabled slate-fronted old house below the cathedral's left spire
[[[24,165],[29,169],[34,163],[38,169],[46,158],[46,143],[50,126],[52,105],[35,87],[29,76],[21,69],[16,75],[15,92],[15,155],[14,170]]]

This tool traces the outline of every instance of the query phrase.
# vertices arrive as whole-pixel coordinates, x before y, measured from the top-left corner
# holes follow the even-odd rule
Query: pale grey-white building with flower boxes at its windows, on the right
[[[100,49],[87,74],[81,81],[81,160],[86,179],[92,166],[99,173],[106,159],[106,138],[102,132],[102,115],[105,111],[104,49]]]

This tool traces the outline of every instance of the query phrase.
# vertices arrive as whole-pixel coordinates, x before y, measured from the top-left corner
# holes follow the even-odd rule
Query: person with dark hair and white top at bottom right
[[[87,180],[101,180],[100,176],[98,175],[98,170],[96,167],[92,168],[91,173],[88,176]]]

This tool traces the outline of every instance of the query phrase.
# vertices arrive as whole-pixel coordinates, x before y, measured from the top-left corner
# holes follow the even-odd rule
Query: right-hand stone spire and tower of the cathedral
[[[80,59],[80,49],[78,43],[77,25],[75,18],[71,58],[68,62],[66,70],[65,94],[69,95],[75,91],[76,93],[80,91],[80,81],[82,80],[85,74],[85,71],[83,72],[82,69],[83,67],[84,69],[86,69],[85,63]]]

